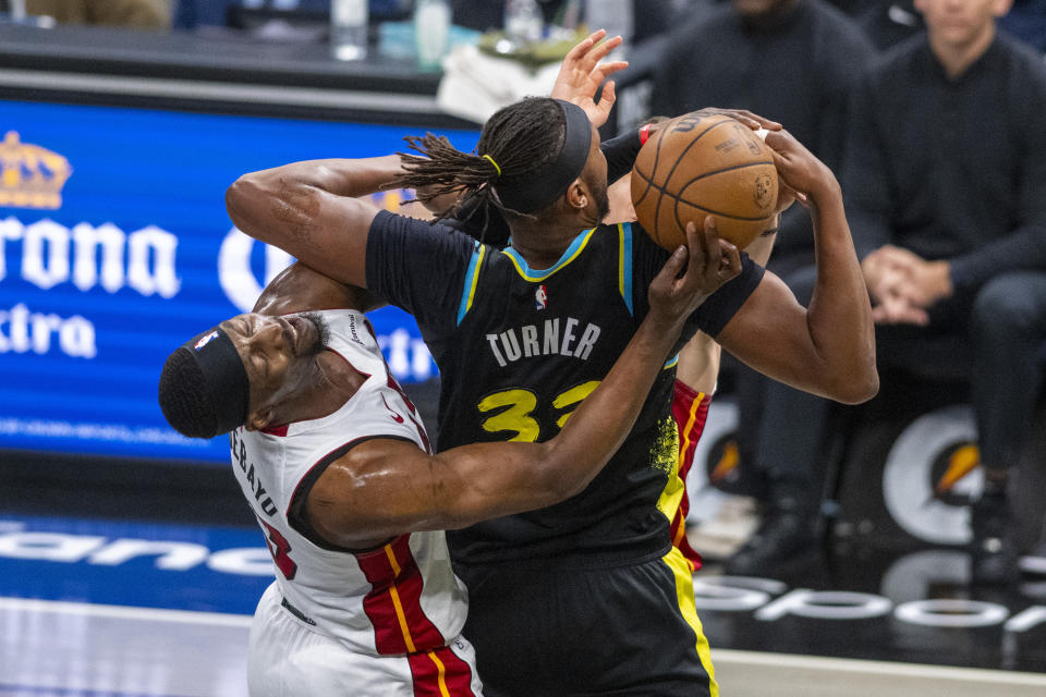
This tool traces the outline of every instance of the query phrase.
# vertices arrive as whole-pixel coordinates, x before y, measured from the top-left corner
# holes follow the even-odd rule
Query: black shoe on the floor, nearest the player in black
[[[752,538],[723,563],[723,573],[759,576],[805,560],[818,549],[816,521],[815,510],[794,499],[771,502]]]

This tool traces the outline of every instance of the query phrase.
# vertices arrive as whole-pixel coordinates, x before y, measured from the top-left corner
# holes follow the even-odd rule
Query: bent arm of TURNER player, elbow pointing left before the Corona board
[[[373,194],[401,173],[397,155],[308,160],[244,174],[226,192],[236,228],[342,283],[366,288]]]

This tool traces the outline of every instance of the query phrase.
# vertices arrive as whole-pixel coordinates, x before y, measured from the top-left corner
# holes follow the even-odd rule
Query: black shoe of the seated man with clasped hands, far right
[[[1009,530],[1006,494],[984,494],[971,508],[971,580],[998,586],[1017,578],[1017,547]]]

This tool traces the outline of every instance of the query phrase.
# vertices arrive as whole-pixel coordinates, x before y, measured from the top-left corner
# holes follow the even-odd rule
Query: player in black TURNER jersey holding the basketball
[[[634,155],[638,134],[624,137]],[[682,340],[702,329],[775,379],[861,402],[878,382],[839,185],[786,132],[766,143],[781,180],[810,206],[814,299],[802,307],[744,257]],[[635,224],[598,224],[607,157],[571,103],[533,98],[502,109],[476,155],[431,137],[415,145],[423,157],[299,162],[244,175],[227,194],[230,215],[247,234],[415,316],[442,377],[440,450],[547,440],[636,330],[648,309],[640,291],[668,253]],[[497,250],[355,198],[391,180],[462,189],[462,206],[477,215],[499,209],[511,246]],[[718,694],[690,567],[668,531],[682,494],[673,374],[669,362],[629,438],[582,493],[449,536],[470,589],[465,632],[488,694]]]

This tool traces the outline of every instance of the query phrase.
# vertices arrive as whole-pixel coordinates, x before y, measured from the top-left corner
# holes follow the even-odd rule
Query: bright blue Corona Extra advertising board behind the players
[[[292,261],[232,225],[226,188],[295,160],[388,155],[412,133],[3,101],[0,134],[0,448],[226,462],[224,437],[182,438],[156,400],[167,355],[250,311]],[[402,193],[375,200],[394,210]],[[435,377],[409,315],[370,320],[401,381]]]

